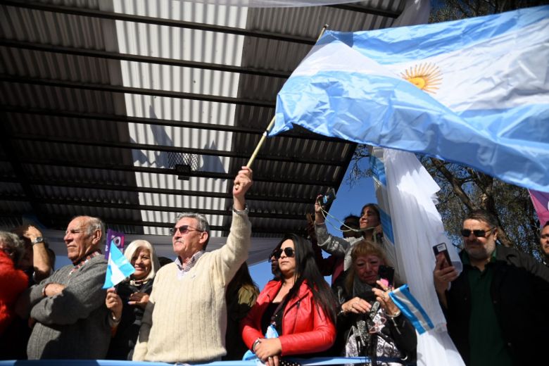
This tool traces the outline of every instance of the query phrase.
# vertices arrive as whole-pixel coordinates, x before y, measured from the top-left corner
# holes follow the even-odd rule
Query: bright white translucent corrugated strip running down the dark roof
[[[133,1],[115,1],[115,11],[160,18],[172,18],[210,24],[243,26],[246,8],[227,8],[204,4],[160,1],[152,5]],[[158,25],[116,22],[116,29],[123,53],[182,60],[224,63],[239,65],[244,37],[200,30],[175,29]],[[210,94],[214,96],[236,96],[239,75],[232,72],[219,72],[150,65],[146,63],[121,63],[125,86],[144,87],[177,92]],[[178,119],[214,124],[231,125],[234,120],[234,107],[226,103],[187,101],[151,96],[126,96],[127,113],[138,117]],[[157,111],[161,111],[160,113]],[[129,125],[130,137],[140,144],[163,144],[185,146],[194,149],[231,151],[232,134],[210,130],[195,130],[177,127],[150,127]],[[200,156],[199,170],[227,172],[229,158]],[[134,151],[136,165],[167,166],[167,153]],[[144,178],[144,179],[143,179]],[[151,177],[136,175],[137,184],[149,186]],[[171,177],[174,179],[175,177]],[[198,180],[191,178],[191,180]],[[183,184],[186,185],[186,184]],[[192,183],[187,184],[192,185]],[[204,191],[226,191],[225,179],[205,179],[200,186]],[[140,202],[158,202],[158,196],[139,194]],[[165,196],[163,201],[169,206],[189,208],[225,209],[225,200],[210,198]],[[142,213],[143,220],[149,221],[150,213]],[[216,219],[217,220],[217,219]],[[216,224],[212,224],[216,225]]]

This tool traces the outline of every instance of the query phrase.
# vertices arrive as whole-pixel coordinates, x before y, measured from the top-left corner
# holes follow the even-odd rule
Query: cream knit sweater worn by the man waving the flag
[[[248,258],[251,225],[233,213],[227,244],[202,255],[181,279],[162,267],[154,279],[133,360],[206,362],[225,355],[225,289]]]

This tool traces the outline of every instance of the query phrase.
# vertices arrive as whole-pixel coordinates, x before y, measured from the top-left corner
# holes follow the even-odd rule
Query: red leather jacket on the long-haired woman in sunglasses
[[[264,338],[261,333],[261,317],[267,305],[277,296],[282,286],[280,281],[271,281],[265,285],[258,300],[248,315],[242,320],[240,327],[242,339],[248,348],[258,338]],[[336,339],[336,327],[320,306],[315,306],[313,292],[305,283],[301,284],[298,296],[292,298],[284,308],[282,316],[281,355],[300,355],[326,351]]]

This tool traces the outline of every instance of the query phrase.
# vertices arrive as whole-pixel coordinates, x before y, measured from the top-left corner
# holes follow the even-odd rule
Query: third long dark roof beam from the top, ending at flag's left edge
[[[235,98],[233,96],[206,95],[186,92],[173,92],[171,90],[146,89],[136,87],[122,87],[111,84],[94,84],[91,82],[75,82],[70,80],[40,79],[38,77],[25,77],[18,75],[0,74],[0,81],[19,84],[34,84],[44,87],[61,87],[69,89],[93,90],[94,92],[127,93],[149,96],[163,96],[165,98],[189,99],[193,101],[211,101],[215,103],[229,103],[241,106],[255,106],[274,108],[274,101],[258,101],[255,99]]]

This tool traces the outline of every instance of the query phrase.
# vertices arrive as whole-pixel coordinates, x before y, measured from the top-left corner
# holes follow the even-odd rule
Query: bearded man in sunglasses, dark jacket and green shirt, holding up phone
[[[463,221],[463,271],[437,255],[434,286],[448,333],[466,365],[542,365],[549,326],[549,269],[496,245],[498,223],[484,210]]]

